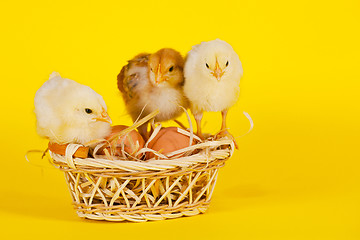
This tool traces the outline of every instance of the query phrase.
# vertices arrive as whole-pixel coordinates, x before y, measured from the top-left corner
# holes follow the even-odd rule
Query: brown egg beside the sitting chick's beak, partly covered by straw
[[[126,128],[128,128],[128,126],[124,126],[124,125],[112,126],[110,135],[107,136],[105,139],[107,140],[111,139],[113,136],[115,136],[115,134],[118,134],[119,132],[121,132]],[[136,148],[137,141],[139,142],[139,148]],[[136,130],[132,130],[126,136],[122,136],[116,140],[116,146],[117,146],[115,151],[116,156],[122,155],[121,153],[122,143],[124,143],[124,151],[129,153],[130,155],[134,155],[139,149],[144,147],[145,141]],[[109,147],[107,147],[107,149],[110,151]],[[100,150],[100,154],[104,154],[103,150]]]

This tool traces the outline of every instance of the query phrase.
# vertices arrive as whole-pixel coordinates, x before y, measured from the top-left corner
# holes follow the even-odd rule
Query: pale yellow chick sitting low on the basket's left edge
[[[88,86],[52,73],[35,94],[37,132],[58,144],[85,144],[110,133],[103,98]]]

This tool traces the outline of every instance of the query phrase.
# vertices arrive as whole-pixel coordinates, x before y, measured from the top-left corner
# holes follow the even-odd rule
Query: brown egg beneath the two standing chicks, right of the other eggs
[[[162,128],[156,137],[149,142],[148,148],[166,155],[167,153],[189,147],[189,141],[190,137],[179,133],[177,127]],[[193,140],[192,145],[195,143],[195,140]],[[146,156],[149,159],[154,157],[154,154],[148,152]]]

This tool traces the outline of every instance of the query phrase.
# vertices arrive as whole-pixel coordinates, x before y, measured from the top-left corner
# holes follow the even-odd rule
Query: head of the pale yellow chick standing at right
[[[217,82],[240,79],[243,74],[239,56],[230,44],[220,39],[202,42],[189,52],[185,76],[194,71],[200,77]]]

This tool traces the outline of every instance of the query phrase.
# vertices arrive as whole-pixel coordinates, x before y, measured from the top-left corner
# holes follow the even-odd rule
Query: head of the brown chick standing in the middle
[[[184,59],[171,48],[163,48],[149,58],[150,82],[158,87],[176,87],[184,82]]]

